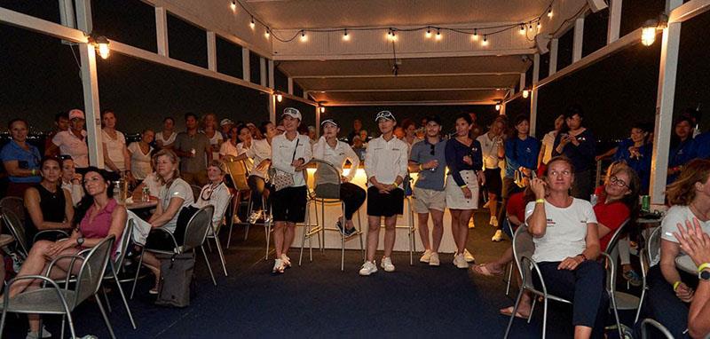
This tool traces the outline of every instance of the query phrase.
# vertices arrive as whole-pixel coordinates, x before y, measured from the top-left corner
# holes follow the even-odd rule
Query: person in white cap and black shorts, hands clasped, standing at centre
[[[365,154],[367,174],[367,261],[360,268],[360,275],[377,272],[375,252],[380,239],[380,223],[384,217],[384,256],[380,265],[385,272],[394,272],[391,254],[394,248],[397,215],[404,210],[402,182],[406,177],[407,146],[394,137],[397,124],[390,111],[382,111],[375,117],[382,136],[370,140]]]

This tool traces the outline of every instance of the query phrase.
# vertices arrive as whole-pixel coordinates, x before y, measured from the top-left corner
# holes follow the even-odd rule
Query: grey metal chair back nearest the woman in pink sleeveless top
[[[104,279],[106,272],[106,265],[111,258],[111,249],[114,248],[114,241],[115,237],[109,235],[91,248],[89,254],[83,259],[79,274],[76,276],[74,307],[99,292],[101,280]]]

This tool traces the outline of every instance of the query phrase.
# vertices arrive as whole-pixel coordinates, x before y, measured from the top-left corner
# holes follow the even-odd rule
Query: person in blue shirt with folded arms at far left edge
[[[39,183],[40,159],[42,155],[36,146],[28,144],[28,122],[22,119],[12,119],[7,124],[12,140],[3,146],[0,159],[7,174],[10,175],[10,185],[7,196],[21,197],[32,185]]]

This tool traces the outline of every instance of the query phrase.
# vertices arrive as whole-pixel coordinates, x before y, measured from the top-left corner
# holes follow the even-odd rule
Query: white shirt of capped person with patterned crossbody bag
[[[311,138],[308,136],[296,134],[296,138],[288,140],[286,133],[284,133],[272,139],[272,166],[274,169],[294,177],[292,187],[304,186],[305,178],[301,171],[296,172],[296,168],[291,166],[291,162],[298,158],[303,158],[304,162],[310,162],[312,157]]]

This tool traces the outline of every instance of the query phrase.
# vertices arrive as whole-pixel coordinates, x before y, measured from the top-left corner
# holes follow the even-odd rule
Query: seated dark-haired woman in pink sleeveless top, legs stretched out
[[[86,197],[84,197],[81,207],[77,209],[76,220],[78,227],[75,228],[71,237],[66,240],[49,241],[39,240],[29,251],[27,260],[18,276],[44,274],[47,265],[57,256],[73,255],[83,250],[99,244],[107,236],[113,235],[116,239],[112,255],[118,247],[118,240],[126,225],[126,209],[118,205],[111,197],[113,184],[108,181],[106,171],[89,167],[86,169],[83,179]],[[79,272],[81,264],[74,266],[73,273]],[[68,260],[60,260],[50,272],[50,278],[57,280],[67,276],[69,269]],[[10,297],[17,296],[25,290],[39,288],[41,280],[20,280],[10,288]],[[39,316],[28,315],[29,333],[28,337],[48,337],[51,334],[42,328],[40,334]]]

